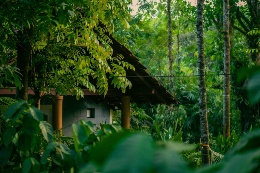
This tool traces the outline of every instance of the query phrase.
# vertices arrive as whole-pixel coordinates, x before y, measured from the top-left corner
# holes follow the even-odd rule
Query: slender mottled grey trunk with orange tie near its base
[[[203,37],[203,3],[197,1],[197,39],[198,39],[198,74],[199,74],[199,116],[202,144],[209,145],[209,126],[207,120],[207,96],[205,84],[205,60],[204,60],[204,37]],[[201,149],[202,165],[210,164],[209,147]]]

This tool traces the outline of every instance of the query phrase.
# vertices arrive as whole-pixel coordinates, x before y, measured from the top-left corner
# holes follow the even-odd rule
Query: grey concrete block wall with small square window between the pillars
[[[95,117],[87,118],[87,109],[95,108]],[[62,131],[65,136],[72,136],[72,123],[80,124],[80,120],[88,120],[93,124],[107,123],[109,124],[110,109],[106,103],[96,104],[88,96],[76,99],[76,96],[63,96],[62,103]]]

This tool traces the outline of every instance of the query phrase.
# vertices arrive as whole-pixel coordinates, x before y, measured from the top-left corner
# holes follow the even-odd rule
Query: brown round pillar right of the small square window
[[[121,126],[124,129],[130,128],[130,99],[131,96],[121,97]]]

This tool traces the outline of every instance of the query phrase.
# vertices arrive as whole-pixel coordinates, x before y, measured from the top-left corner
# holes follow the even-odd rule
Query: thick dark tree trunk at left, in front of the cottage
[[[21,90],[19,90],[19,88],[16,87],[16,100],[23,99],[25,101],[28,101],[28,72],[30,67],[30,58],[33,51],[31,48],[30,40],[35,33],[34,26],[35,23],[34,25],[31,25],[30,29],[24,27],[23,33],[22,31],[17,32],[17,67],[20,69],[20,73],[22,74],[19,76],[22,79],[21,82],[23,87]]]

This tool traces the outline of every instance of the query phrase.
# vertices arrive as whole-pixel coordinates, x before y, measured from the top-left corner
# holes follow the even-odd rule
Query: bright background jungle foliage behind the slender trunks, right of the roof
[[[236,11],[233,8],[237,2],[230,1],[230,21],[234,22],[233,25],[236,26],[239,23],[235,18]],[[224,68],[223,34],[219,31],[223,27],[223,2],[206,1],[206,3],[208,4],[204,5],[205,74],[214,74],[205,77],[207,114],[209,133],[217,137],[219,132],[223,131],[223,76],[215,75],[223,74]],[[196,6],[192,6],[186,1],[172,2],[173,75],[176,77],[173,77],[173,86],[170,87],[169,78],[160,77],[169,75],[166,5],[164,1],[140,1],[139,11],[129,23],[130,29],[123,29],[119,25],[120,22],[117,21],[118,26],[114,35],[139,57],[141,63],[148,67],[147,71],[153,76],[158,76],[157,80],[180,101],[182,106],[174,105],[175,109],[185,107],[186,113],[184,114],[186,115],[181,115],[184,123],[183,140],[198,143],[200,139],[198,77],[190,76],[198,75],[196,26],[192,23],[196,22]],[[247,18],[250,18],[248,8],[250,7],[246,5],[240,6],[240,10]],[[259,35],[259,33],[253,34],[253,36],[255,35]],[[258,36],[256,37],[258,38]],[[236,79],[239,78],[238,73],[242,73],[239,72],[241,68],[254,67],[256,62],[249,58],[251,49],[246,36],[232,27],[230,27],[230,44],[230,74],[234,74],[230,75],[230,129],[241,134],[248,131],[251,125],[255,126],[259,123],[259,105],[249,104],[244,80]],[[257,44],[259,45],[259,43]],[[178,77],[186,75],[190,77]],[[145,111],[143,113],[150,117],[157,115],[156,106],[138,105],[138,107],[142,108]],[[167,107],[167,109],[171,108]],[[138,110],[136,111],[138,112]],[[161,114],[165,116],[166,121],[169,120],[167,114],[169,113]],[[173,121],[176,121],[177,117],[178,115],[174,117]],[[166,123],[166,126],[169,127],[169,125],[172,126],[172,124]],[[141,125],[139,124],[139,126]]]

